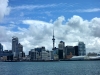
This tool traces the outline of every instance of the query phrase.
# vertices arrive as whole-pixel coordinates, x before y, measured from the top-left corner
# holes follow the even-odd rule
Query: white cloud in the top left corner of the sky
[[[0,21],[5,15],[9,15],[10,7],[8,7],[8,0],[0,0]]]

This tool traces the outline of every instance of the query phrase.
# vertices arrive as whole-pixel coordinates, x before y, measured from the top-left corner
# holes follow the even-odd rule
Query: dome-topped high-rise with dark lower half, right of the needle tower
[[[60,43],[58,44],[58,56],[59,59],[65,58],[65,43],[63,41],[60,41]]]

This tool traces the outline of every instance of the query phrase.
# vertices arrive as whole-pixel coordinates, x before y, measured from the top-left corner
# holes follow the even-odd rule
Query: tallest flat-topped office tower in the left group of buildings
[[[13,57],[18,57],[18,37],[12,37],[12,53]]]

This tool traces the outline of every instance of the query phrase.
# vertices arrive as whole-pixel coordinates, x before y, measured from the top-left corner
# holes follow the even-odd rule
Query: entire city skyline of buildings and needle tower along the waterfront
[[[18,41],[18,37],[12,37],[12,50],[3,50],[0,43],[0,61],[37,61],[37,60],[66,60],[73,56],[86,55],[84,42],[78,42],[77,46],[65,46],[65,42],[60,41],[55,47],[55,36],[53,31],[53,48],[46,50],[45,47],[31,49],[25,56],[23,45]]]

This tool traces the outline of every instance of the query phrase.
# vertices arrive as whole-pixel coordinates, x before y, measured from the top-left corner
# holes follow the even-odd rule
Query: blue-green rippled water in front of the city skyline
[[[0,62],[0,75],[100,75],[100,61]]]

